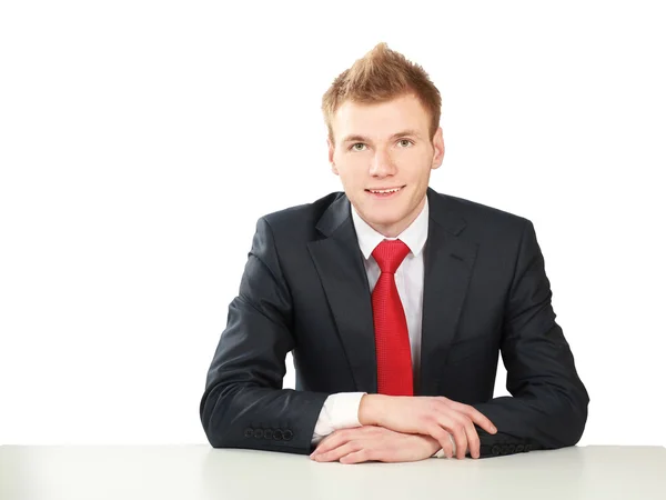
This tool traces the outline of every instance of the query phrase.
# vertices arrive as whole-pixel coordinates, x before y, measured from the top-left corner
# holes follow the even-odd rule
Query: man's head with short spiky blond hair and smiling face
[[[442,98],[427,73],[377,44],[322,99],[329,161],[359,214],[396,237],[421,212],[430,172],[442,164]],[[396,188],[393,193],[377,190]]]

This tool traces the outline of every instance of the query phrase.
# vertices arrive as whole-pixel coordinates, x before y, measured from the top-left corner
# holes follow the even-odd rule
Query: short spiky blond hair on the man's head
[[[340,73],[324,93],[322,112],[329,139],[334,142],[331,121],[344,101],[379,103],[405,94],[414,94],[428,112],[432,140],[440,127],[442,113],[440,91],[420,64],[389,49],[385,42],[377,43],[350,69]]]

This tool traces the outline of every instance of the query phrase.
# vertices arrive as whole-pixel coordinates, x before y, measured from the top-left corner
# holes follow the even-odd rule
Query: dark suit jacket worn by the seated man
[[[427,191],[415,396],[472,404],[481,457],[575,444],[588,394],[551,306],[531,221]],[[215,448],[310,453],[326,397],[376,393],[371,292],[351,206],[334,192],[261,218],[200,416]],[[282,389],[293,352],[296,389]],[[493,399],[498,353],[513,397]]]

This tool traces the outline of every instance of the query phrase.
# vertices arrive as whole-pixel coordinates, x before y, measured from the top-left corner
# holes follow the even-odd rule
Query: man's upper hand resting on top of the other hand
[[[467,448],[472,458],[481,454],[481,441],[474,423],[494,434],[497,429],[475,408],[444,397],[403,397],[365,394],[359,408],[362,426],[380,426],[396,432],[432,436],[446,453],[464,459]]]

